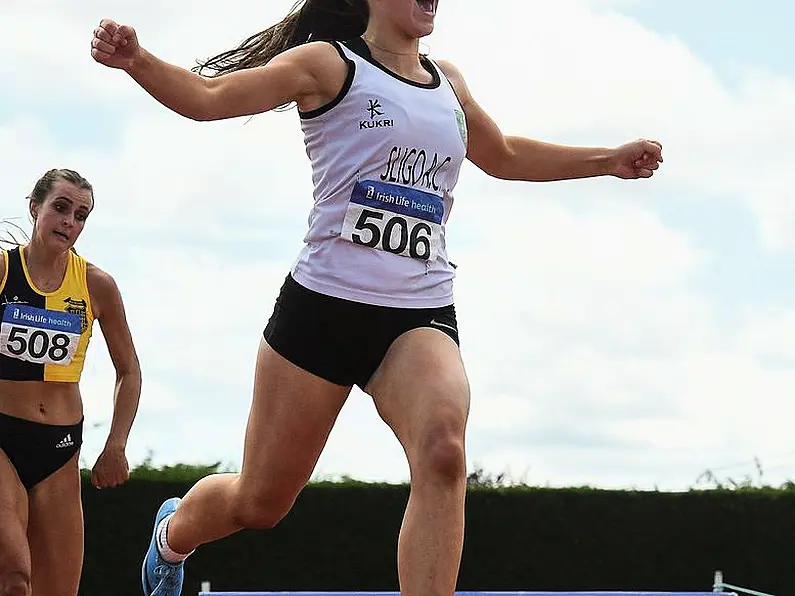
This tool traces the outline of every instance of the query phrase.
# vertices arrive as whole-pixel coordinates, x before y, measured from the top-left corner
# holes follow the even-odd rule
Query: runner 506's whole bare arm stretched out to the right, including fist
[[[468,126],[468,159],[495,178],[546,182],[593,176],[649,178],[662,162],[662,145],[639,139],[620,147],[570,147],[506,136],[472,97],[461,72],[439,66],[453,85]]]

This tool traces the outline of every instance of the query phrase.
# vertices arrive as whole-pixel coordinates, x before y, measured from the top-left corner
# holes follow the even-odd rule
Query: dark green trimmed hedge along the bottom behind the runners
[[[159,504],[215,468],[138,470],[112,491],[84,489],[81,594],[139,596]],[[177,475],[179,481],[168,480]],[[313,483],[276,528],[201,547],[184,594],[214,590],[396,590],[408,487]],[[795,562],[795,491],[685,493],[473,486],[461,590],[704,590],[732,583],[786,594]]]

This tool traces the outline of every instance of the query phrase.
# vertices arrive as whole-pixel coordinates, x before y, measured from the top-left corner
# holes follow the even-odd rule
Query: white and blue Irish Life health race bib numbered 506
[[[441,197],[365,180],[353,188],[341,236],[354,244],[432,261],[439,254],[443,220]]]

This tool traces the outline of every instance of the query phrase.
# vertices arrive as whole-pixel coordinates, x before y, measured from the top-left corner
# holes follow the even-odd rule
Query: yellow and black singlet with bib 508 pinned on
[[[94,314],[87,263],[69,251],[61,287],[33,284],[20,247],[3,251],[0,279],[0,379],[77,383],[83,372]]]

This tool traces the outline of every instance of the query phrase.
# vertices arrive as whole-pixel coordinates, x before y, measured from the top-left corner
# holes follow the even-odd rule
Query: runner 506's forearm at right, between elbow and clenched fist
[[[597,147],[570,147],[522,137],[507,137],[510,158],[499,177],[506,180],[551,182],[609,175],[614,151]]]

